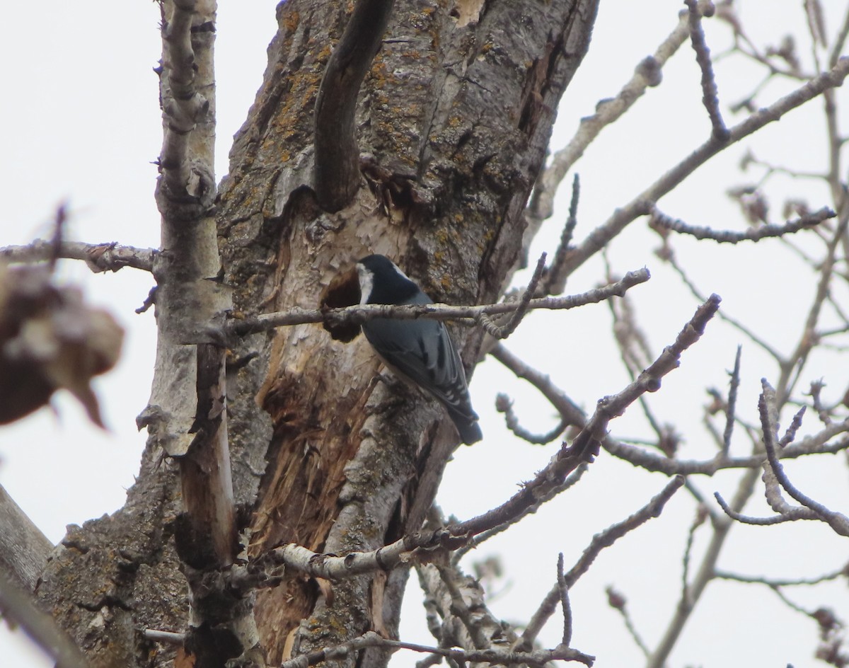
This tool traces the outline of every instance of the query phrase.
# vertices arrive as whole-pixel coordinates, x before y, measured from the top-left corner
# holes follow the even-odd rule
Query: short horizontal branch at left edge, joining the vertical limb
[[[83,244],[82,241],[63,241],[57,247],[52,241],[36,239],[25,246],[0,248],[0,260],[14,262],[43,262],[53,257],[82,260],[94,273],[117,272],[122,267],[152,272],[158,251],[152,248],[121,246],[114,241],[105,244]]]

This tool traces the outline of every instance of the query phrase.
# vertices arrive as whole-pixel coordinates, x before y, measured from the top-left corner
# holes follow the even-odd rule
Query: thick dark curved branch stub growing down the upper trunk
[[[318,88],[313,188],[324,211],[344,208],[360,187],[357,93],[380,48],[392,5],[393,0],[357,0]]]

